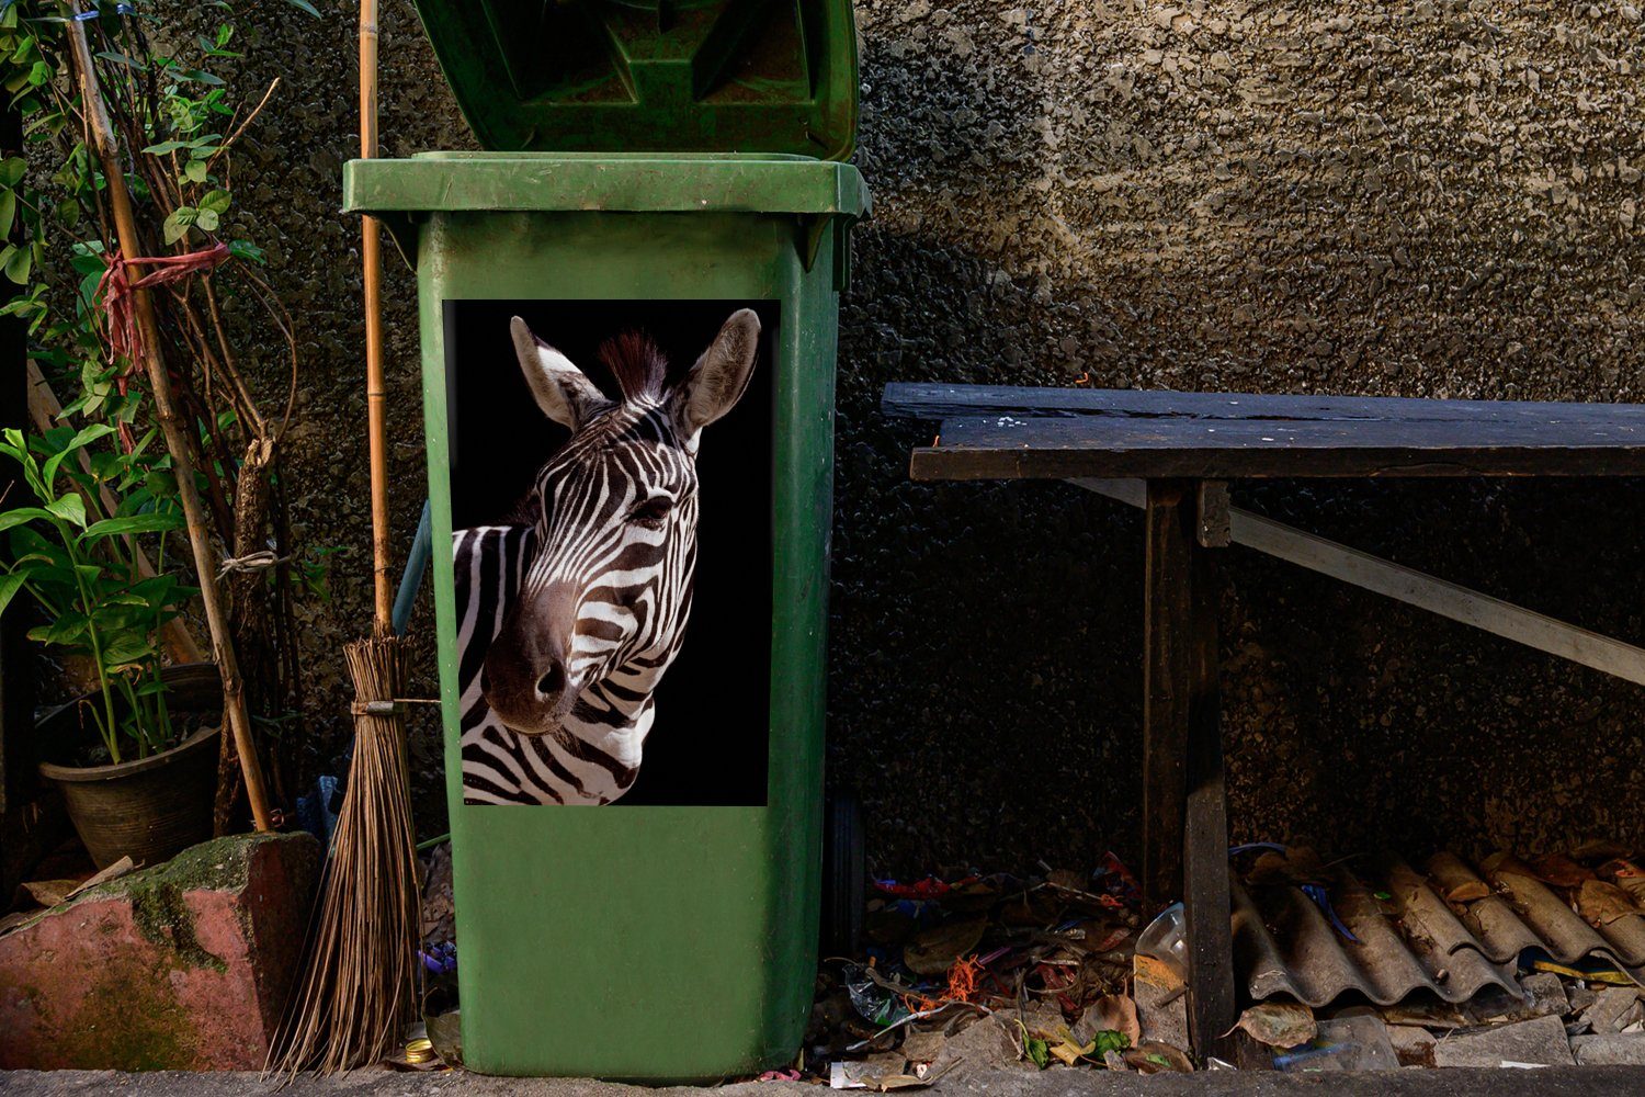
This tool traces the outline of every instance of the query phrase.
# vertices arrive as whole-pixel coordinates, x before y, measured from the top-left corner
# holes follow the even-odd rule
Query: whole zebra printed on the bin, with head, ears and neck
[[[747,391],[760,317],[734,311],[673,383],[650,337],[605,340],[615,398],[518,316],[508,332],[571,437],[510,521],[452,535],[464,803],[610,804],[686,636],[701,434]]]

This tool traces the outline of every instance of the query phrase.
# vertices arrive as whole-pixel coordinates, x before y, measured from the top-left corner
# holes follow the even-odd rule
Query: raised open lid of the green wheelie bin
[[[857,140],[850,0],[416,0],[480,145],[795,153]]]

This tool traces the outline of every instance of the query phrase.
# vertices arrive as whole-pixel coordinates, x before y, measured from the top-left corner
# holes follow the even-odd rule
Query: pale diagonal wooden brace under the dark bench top
[[[1069,484],[1132,507],[1145,503],[1142,480],[1077,479],[1069,480]],[[1645,686],[1645,648],[1637,648],[1632,643],[1504,602],[1448,579],[1436,579],[1415,567],[1328,541],[1314,533],[1253,515],[1239,507],[1229,508],[1229,535],[1234,544],[1244,544],[1298,567],[1374,590],[1395,602],[1415,605],[1462,625],[1472,625],[1494,636],[1523,643],[1527,648],[1558,655],[1561,660]]]

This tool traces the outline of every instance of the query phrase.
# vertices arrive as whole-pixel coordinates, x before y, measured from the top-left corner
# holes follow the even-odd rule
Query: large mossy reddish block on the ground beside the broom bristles
[[[214,839],[0,937],[0,1067],[262,1069],[317,867],[306,834]]]

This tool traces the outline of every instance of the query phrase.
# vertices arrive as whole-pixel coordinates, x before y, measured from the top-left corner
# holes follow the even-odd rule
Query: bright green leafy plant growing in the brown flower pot
[[[150,456],[155,433],[132,452],[95,447],[114,433],[105,423],[41,436],[5,431],[0,454],[20,465],[41,505],[0,511],[10,538],[0,612],[28,590],[48,617],[30,638],[89,660],[99,683],[90,715],[109,758],[122,761],[132,748],[143,758],[173,745],[158,632],[196,590],[163,571],[164,535],[183,516],[164,459]],[[143,536],[156,541],[158,574],[143,574]]]

